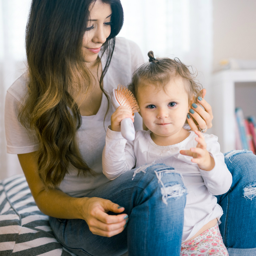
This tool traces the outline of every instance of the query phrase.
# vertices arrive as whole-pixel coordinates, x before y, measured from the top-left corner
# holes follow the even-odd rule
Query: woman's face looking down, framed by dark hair
[[[112,10],[109,4],[100,0],[92,2],[89,8],[90,17],[83,37],[83,56],[85,62],[94,62],[100,47],[110,35]]]

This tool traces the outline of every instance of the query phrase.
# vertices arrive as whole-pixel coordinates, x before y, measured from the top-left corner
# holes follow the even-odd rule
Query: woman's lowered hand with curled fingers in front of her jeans
[[[93,234],[110,237],[125,229],[129,219],[127,214],[120,214],[124,211],[124,207],[98,197],[81,199],[83,199],[81,214]],[[108,215],[109,211],[119,215]]]

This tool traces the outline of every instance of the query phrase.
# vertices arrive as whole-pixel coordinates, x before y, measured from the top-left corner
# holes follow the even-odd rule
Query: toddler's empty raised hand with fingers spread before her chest
[[[201,132],[195,131],[198,137],[195,140],[198,142],[196,148],[190,150],[181,150],[180,153],[185,156],[192,156],[191,162],[197,163],[198,167],[205,171],[210,171],[214,168],[215,162],[213,157],[206,150],[206,142]]]

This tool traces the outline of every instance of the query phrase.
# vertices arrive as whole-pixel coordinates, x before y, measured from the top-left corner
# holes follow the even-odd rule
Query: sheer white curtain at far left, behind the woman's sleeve
[[[4,98],[25,70],[25,28],[30,0],[0,0],[0,179],[22,173],[17,155],[6,153]]]

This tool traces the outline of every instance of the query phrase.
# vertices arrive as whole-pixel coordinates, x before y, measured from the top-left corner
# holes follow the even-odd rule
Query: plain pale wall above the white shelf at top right
[[[256,1],[213,0],[213,66],[223,59],[256,60]]]

